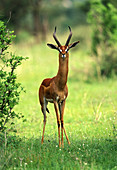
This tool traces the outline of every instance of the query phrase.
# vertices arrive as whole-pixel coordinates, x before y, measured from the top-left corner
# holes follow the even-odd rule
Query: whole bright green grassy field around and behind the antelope
[[[52,41],[51,41],[52,42]],[[41,145],[43,115],[38,89],[46,77],[58,69],[58,52],[46,44],[13,47],[18,55],[29,56],[17,70],[18,81],[26,89],[16,111],[26,122],[16,120],[15,136],[0,140],[0,169],[117,169],[117,80],[96,81],[92,75],[93,60],[87,49],[70,52],[68,89],[64,122],[71,145],[64,137],[64,148],[58,147],[56,115],[49,104],[44,144]]]

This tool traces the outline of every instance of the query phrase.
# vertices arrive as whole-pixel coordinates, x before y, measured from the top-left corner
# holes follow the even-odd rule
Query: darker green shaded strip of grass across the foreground
[[[72,140],[72,139],[71,139]],[[0,136],[0,169],[116,169],[117,140],[72,140],[58,147],[56,137],[45,140]]]

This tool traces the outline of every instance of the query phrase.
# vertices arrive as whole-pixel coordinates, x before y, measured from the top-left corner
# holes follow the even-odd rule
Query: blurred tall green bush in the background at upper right
[[[92,0],[88,13],[92,25],[91,52],[97,58],[98,75],[117,74],[117,9],[102,0]]]

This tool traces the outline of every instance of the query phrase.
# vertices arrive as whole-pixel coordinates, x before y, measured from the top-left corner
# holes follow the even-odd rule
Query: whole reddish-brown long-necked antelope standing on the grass
[[[45,125],[46,125],[46,111],[49,113],[47,108],[48,102],[54,103],[54,108],[57,117],[57,124],[58,124],[58,137],[59,137],[59,147],[61,146],[61,142],[63,145],[63,130],[68,141],[70,144],[69,139],[67,137],[64,122],[63,122],[63,115],[64,115],[64,107],[65,101],[68,96],[68,88],[67,88],[67,77],[68,77],[68,60],[69,60],[69,49],[75,47],[79,41],[72,43],[69,45],[69,41],[72,36],[71,28],[69,27],[70,34],[66,41],[65,45],[61,45],[58,39],[56,38],[56,27],[53,34],[53,37],[57,43],[56,45],[47,44],[50,48],[56,49],[59,51],[59,69],[58,73],[53,78],[44,79],[40,88],[39,88],[39,101],[41,104],[41,110],[44,116],[44,126],[43,126],[43,134],[41,143],[43,144],[44,141],[44,132],[45,132]],[[59,116],[59,113],[60,116]],[[60,123],[61,123],[61,140],[60,140]]]

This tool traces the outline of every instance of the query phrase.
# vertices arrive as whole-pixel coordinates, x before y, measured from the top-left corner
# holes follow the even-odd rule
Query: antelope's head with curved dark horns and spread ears
[[[69,26],[68,26],[69,27]],[[71,28],[69,27],[69,30],[70,30],[70,34],[68,36],[68,39],[65,43],[65,45],[61,45],[61,43],[58,41],[57,37],[56,37],[56,27],[55,27],[55,31],[53,33],[53,37],[54,37],[54,40],[56,41],[57,45],[54,45],[54,44],[47,44],[50,48],[52,49],[56,49],[59,51],[59,54],[60,56],[64,59],[66,58],[66,56],[68,56],[68,51],[72,48],[72,47],[75,47],[80,41],[76,41],[72,44],[69,44],[70,42],[70,39],[72,37],[72,32],[71,32]]]

